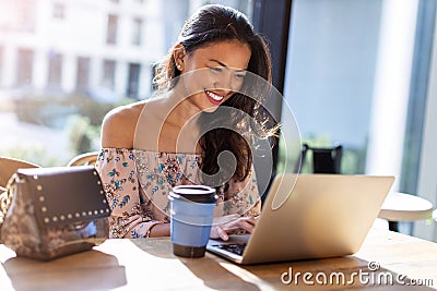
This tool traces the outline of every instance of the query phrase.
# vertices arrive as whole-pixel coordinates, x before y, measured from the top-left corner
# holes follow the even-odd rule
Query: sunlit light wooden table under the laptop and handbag
[[[237,266],[212,254],[180,258],[168,239],[108,240],[90,252],[49,263],[15,257],[0,245],[0,290],[433,290],[437,289],[437,244],[387,230],[370,230],[361,251],[346,257]],[[375,271],[368,268],[380,266]],[[314,286],[303,277],[290,284],[288,274],[312,274]],[[376,278],[375,284],[353,272]],[[327,284],[317,283],[327,276]],[[341,274],[345,276],[342,282]],[[426,286],[385,283],[400,276],[403,282],[423,279]],[[373,276],[373,277],[371,277]],[[403,278],[408,276],[408,278]],[[332,278],[332,284],[329,278]],[[336,279],[339,278],[339,283]],[[366,278],[366,277],[363,277]],[[353,284],[347,284],[347,280]],[[307,277],[307,282],[311,279]],[[297,284],[296,284],[297,282]],[[383,284],[380,284],[383,283]]]

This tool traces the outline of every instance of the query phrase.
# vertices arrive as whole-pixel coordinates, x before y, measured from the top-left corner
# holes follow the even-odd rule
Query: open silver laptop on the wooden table
[[[393,177],[280,174],[251,234],[210,240],[206,250],[241,265],[356,253]]]

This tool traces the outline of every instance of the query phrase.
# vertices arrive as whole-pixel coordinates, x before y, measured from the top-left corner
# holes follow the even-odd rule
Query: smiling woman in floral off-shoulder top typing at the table
[[[248,74],[271,82],[265,41],[243,13],[200,8],[156,70],[157,96],[104,120],[96,167],[113,208],[110,238],[169,235],[168,192],[197,183],[216,187],[215,216],[239,216],[213,226],[211,238],[252,231],[260,198],[251,147],[273,131],[263,126],[259,100],[239,93],[252,89]],[[221,162],[221,153],[232,153],[234,162]]]

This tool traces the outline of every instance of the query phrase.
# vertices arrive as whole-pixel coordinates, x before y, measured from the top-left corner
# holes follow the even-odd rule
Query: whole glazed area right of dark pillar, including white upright
[[[293,1],[284,97],[303,142],[343,145],[342,173],[394,175],[393,191],[421,194],[435,14],[435,1]]]

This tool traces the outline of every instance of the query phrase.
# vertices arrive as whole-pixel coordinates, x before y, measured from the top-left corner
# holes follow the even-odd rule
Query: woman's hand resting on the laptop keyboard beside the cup
[[[210,238],[227,241],[229,239],[227,233],[239,229],[252,233],[255,225],[257,223],[257,218],[258,217],[252,216],[239,217],[231,221],[213,225],[211,228]]]

